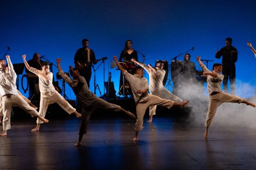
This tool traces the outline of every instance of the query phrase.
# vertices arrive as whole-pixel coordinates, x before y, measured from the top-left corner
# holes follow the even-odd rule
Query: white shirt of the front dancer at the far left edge
[[[10,59],[7,59],[9,74],[0,72],[0,93],[1,96],[5,94],[18,95],[16,87],[17,75],[13,70],[13,65]]]

